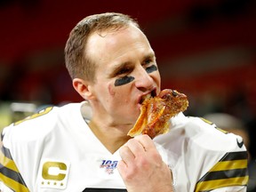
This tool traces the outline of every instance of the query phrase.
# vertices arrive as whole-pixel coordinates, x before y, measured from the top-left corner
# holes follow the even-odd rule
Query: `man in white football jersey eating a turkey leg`
[[[242,140],[199,118],[180,113],[170,132],[154,140],[127,136],[143,98],[161,89],[155,52],[129,16],[108,12],[81,20],[65,58],[76,92],[87,101],[46,108],[4,129],[2,188],[246,190]]]

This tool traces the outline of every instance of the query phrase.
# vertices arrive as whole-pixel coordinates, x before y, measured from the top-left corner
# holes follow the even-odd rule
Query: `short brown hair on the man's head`
[[[138,22],[130,16],[116,12],[94,14],[79,21],[69,34],[64,52],[66,68],[68,68],[71,78],[94,80],[95,63],[89,59],[84,50],[87,40],[93,32],[125,28],[131,24],[140,28]]]

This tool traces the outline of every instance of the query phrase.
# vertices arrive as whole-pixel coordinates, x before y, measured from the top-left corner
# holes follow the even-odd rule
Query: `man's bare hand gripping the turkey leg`
[[[148,135],[128,140],[119,150],[117,169],[129,192],[172,192],[172,172]]]

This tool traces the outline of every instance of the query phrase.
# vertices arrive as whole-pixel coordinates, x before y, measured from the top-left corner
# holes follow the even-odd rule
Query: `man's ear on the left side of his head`
[[[76,92],[78,92],[84,98],[84,100],[91,100],[93,97],[90,86],[91,85],[89,82],[84,81],[84,79],[73,79],[73,87],[75,88]]]

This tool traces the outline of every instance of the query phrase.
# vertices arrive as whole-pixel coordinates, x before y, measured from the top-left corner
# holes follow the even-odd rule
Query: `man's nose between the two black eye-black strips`
[[[140,91],[146,92],[148,90],[152,90],[154,88],[154,80],[153,78],[147,73],[145,68],[141,67],[138,70],[135,85]]]

